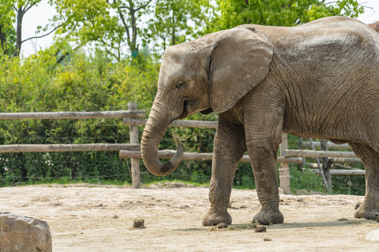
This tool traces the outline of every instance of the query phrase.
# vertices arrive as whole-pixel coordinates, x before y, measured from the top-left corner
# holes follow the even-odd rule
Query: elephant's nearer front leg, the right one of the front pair
[[[254,216],[253,223],[284,221],[283,214],[279,211],[277,180],[277,150],[280,142],[281,127],[268,132],[246,131],[246,146],[251,158],[258,200],[262,205],[260,212]]]

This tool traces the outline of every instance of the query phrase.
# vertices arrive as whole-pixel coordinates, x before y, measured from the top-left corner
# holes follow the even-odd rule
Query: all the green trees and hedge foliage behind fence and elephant
[[[356,0],[217,0],[217,8],[207,0],[49,0],[57,15],[43,30],[57,28],[54,44],[25,59],[12,58],[16,41],[14,7],[38,2],[6,0],[0,4],[1,112],[124,110],[128,102],[135,101],[138,109],[148,114],[160,67],[156,62],[160,56],[152,55],[150,50],[160,53],[161,47],[244,23],[291,26],[328,15],[355,18],[363,11]],[[217,118],[215,113],[197,113],[188,119]],[[142,130],[141,126],[140,134]],[[160,149],[175,148],[173,134],[185,138],[186,151],[213,151],[215,130],[169,129]],[[288,136],[288,147],[297,148],[297,141],[297,137]],[[0,120],[0,144],[105,142],[128,142],[128,126],[122,125],[121,119]],[[57,180],[131,183],[129,163],[119,159],[117,152],[1,153],[0,186]],[[173,174],[159,178],[147,172],[141,161],[141,180],[208,183],[211,163],[181,162]],[[363,177],[339,176],[332,180],[333,193],[364,194]],[[233,186],[255,188],[250,164],[238,166]],[[295,166],[291,167],[291,188],[324,190],[319,176]]]

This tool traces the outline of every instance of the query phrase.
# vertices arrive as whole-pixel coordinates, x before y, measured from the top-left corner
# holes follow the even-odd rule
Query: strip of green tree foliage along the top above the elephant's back
[[[219,13],[215,29],[230,29],[242,24],[293,26],[331,15],[357,18],[364,12],[357,0],[217,0]]]

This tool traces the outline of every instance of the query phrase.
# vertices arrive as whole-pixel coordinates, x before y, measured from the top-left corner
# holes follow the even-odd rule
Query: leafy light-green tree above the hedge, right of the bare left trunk
[[[50,0],[50,3],[57,11],[50,24],[58,27],[54,35],[55,44],[51,48],[57,63],[88,43],[102,43],[109,36],[114,38],[117,19],[109,14],[105,0]]]

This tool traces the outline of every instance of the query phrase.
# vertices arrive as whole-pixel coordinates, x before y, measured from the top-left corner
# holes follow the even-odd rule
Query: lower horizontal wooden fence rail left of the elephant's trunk
[[[11,144],[0,146],[0,153],[120,151],[140,150],[140,144]]]

